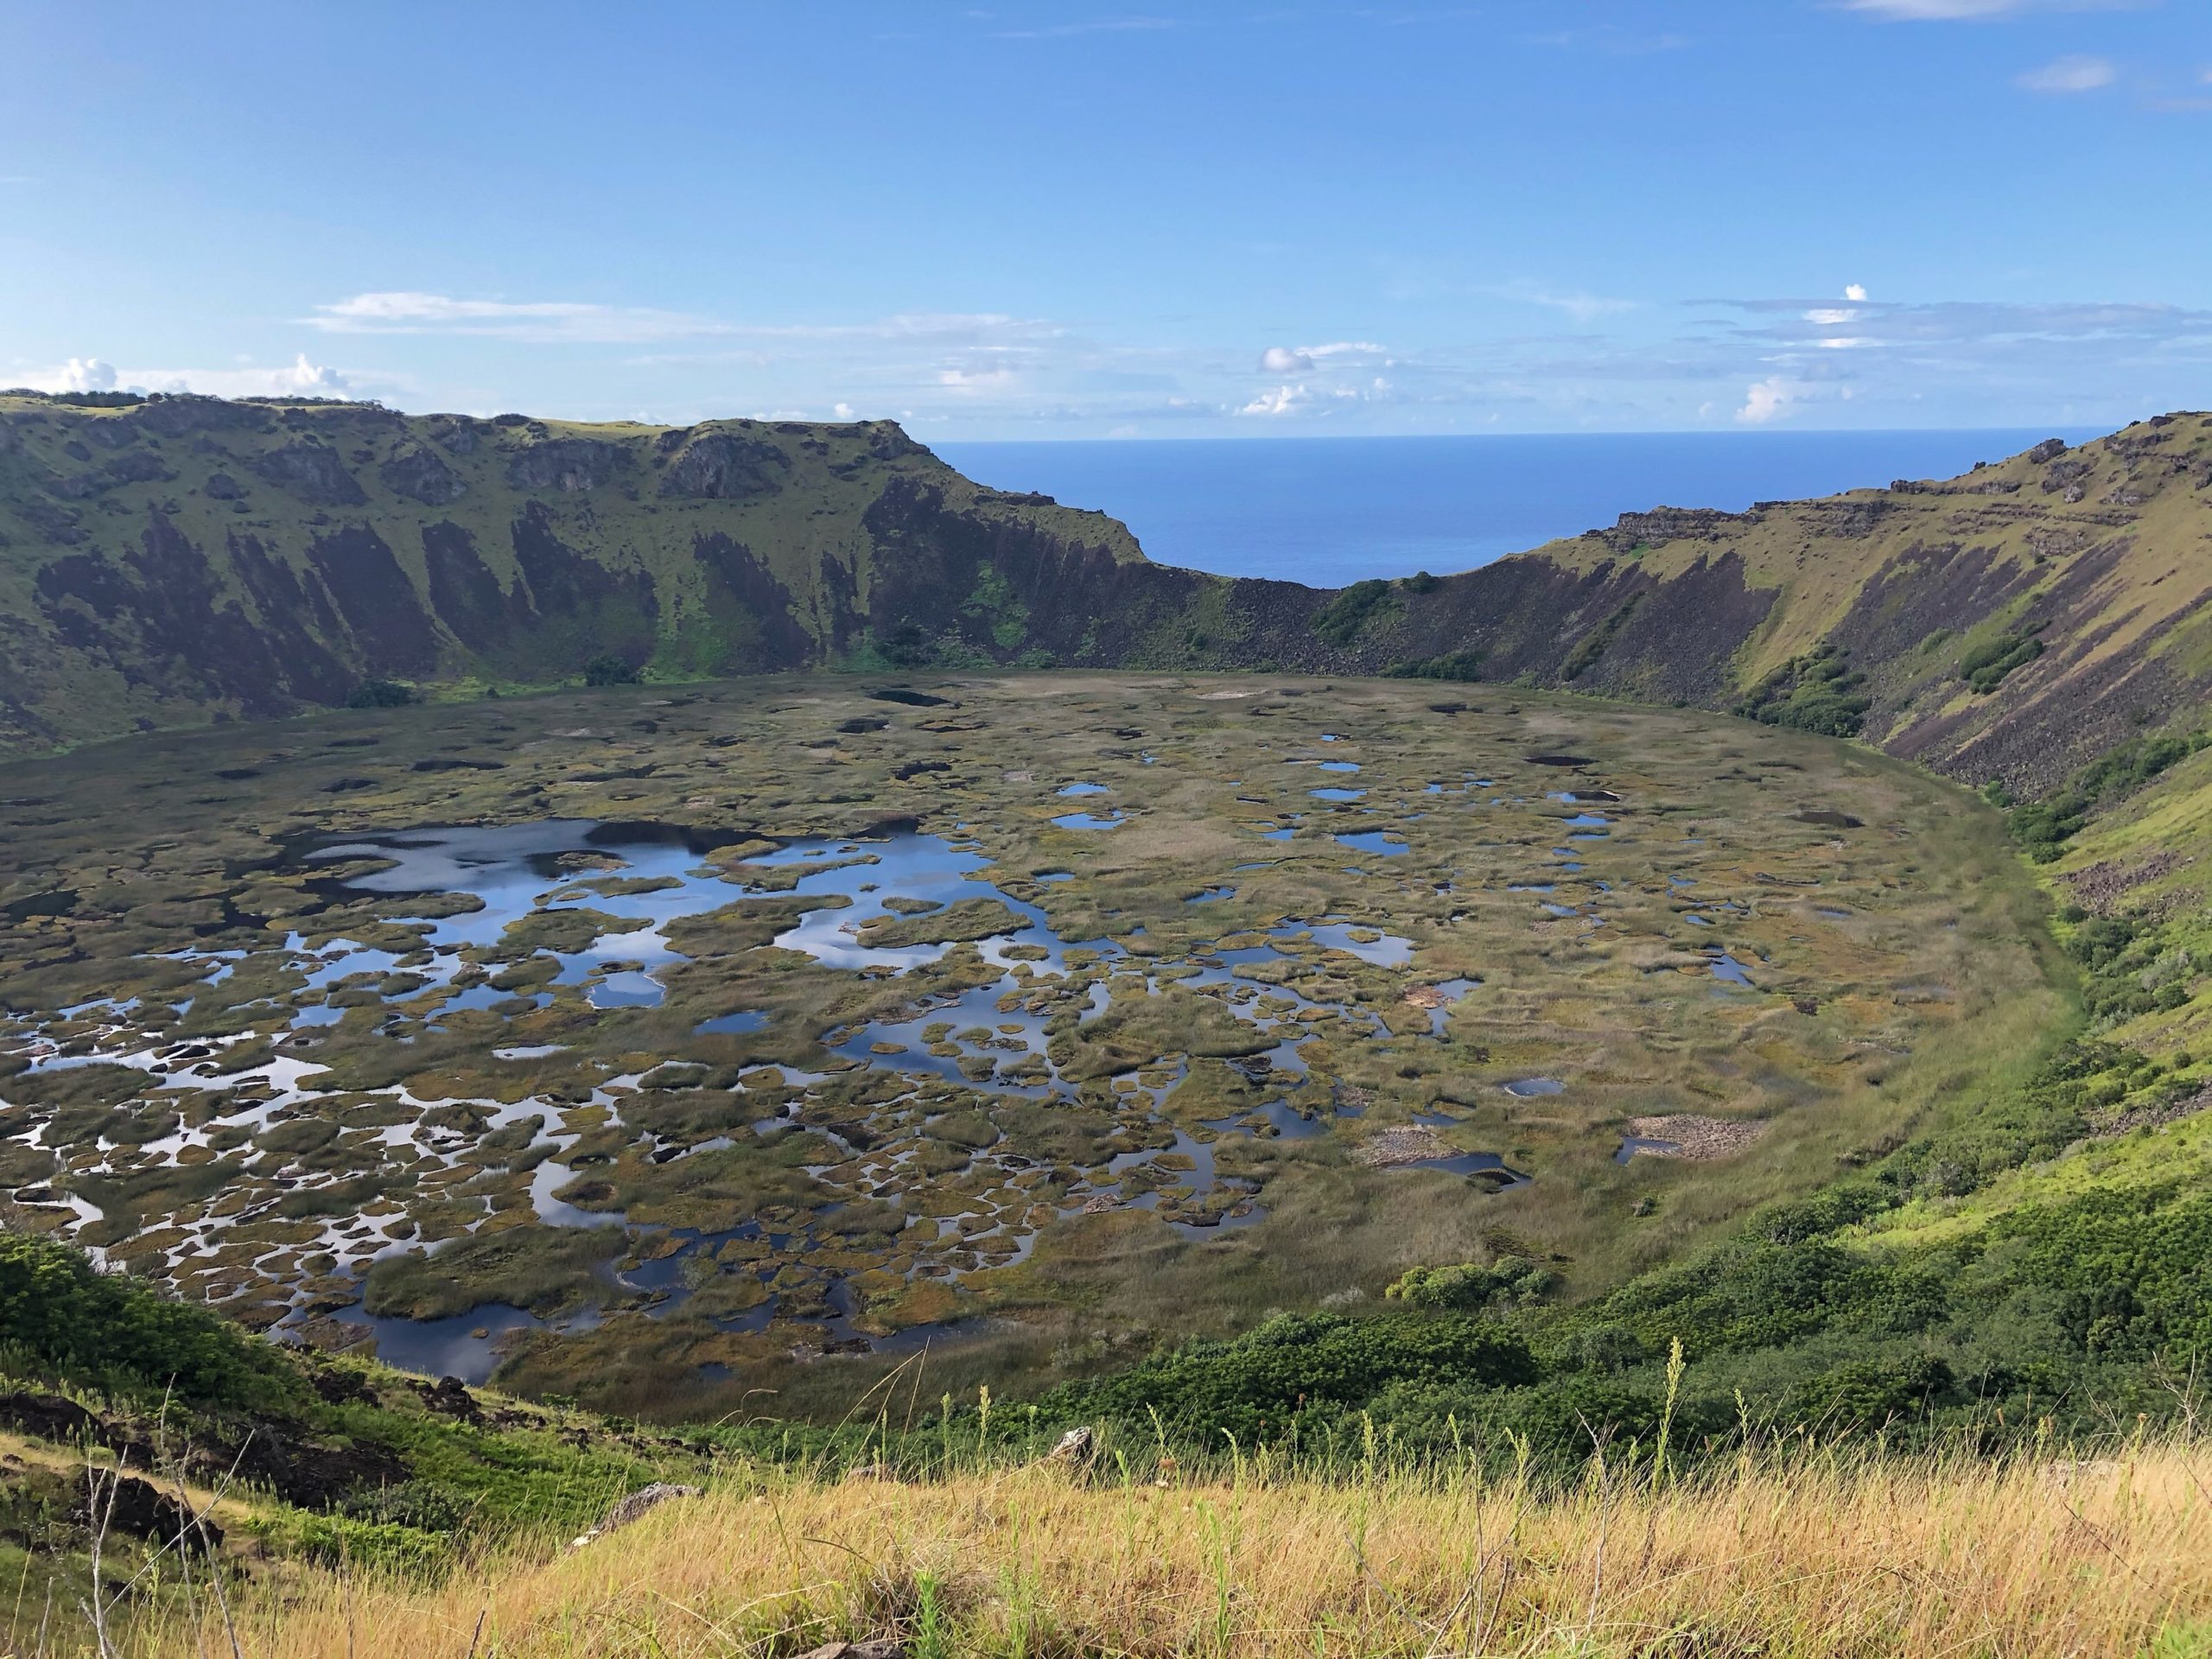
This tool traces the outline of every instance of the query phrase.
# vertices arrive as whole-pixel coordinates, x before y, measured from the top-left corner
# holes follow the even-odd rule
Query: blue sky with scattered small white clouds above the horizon
[[[925,440],[2212,405],[2205,0],[13,0],[0,66],[0,385]]]

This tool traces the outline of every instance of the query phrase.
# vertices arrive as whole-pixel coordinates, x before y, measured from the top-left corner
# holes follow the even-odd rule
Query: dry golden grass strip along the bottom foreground
[[[1564,1495],[1429,1473],[1347,1484],[730,1480],[584,1548],[438,1586],[272,1579],[237,1628],[133,1659],[790,1655],[2212,1652],[2212,1455],[1871,1460],[1803,1451]]]

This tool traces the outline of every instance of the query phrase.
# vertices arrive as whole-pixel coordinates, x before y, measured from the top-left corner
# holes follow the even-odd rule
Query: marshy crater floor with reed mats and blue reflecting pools
[[[2053,995],[1962,792],[1491,686],[622,688],[0,796],[9,1223],[668,1416],[922,1349],[1077,1371],[1413,1263],[1588,1294]]]

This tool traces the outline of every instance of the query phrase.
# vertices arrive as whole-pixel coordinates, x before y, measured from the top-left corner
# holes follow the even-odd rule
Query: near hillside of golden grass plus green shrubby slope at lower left
[[[2139,1425],[1900,1455],[1834,1425],[1714,1438],[1670,1389],[1644,1433],[1593,1418],[1568,1458],[1360,1413],[1334,1451],[1159,1418],[1062,1438],[989,1398],[650,1433],[288,1356],[22,1239],[0,1334],[0,1644],[42,1659],[2199,1659],[2212,1637],[2212,1467]],[[1285,1358],[1276,1383],[1343,1376]]]

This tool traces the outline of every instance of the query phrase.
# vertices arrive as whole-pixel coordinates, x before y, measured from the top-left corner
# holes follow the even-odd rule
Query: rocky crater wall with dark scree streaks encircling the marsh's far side
[[[577,427],[0,394],[0,748],[372,679],[1126,666],[1575,686],[2022,790],[2212,701],[2212,420],[1949,482],[1655,509],[1440,580],[1144,560],[889,422]]]

